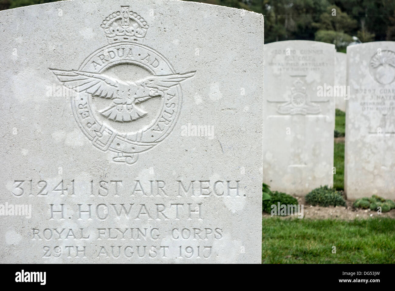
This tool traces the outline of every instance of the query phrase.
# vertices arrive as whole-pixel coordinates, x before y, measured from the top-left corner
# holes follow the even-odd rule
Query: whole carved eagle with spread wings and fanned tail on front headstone
[[[130,122],[145,116],[147,112],[137,107],[136,103],[152,97],[164,97],[166,90],[195,74],[195,72],[188,72],[157,75],[135,82],[125,82],[105,74],[77,70],[50,70],[66,87],[77,92],[85,91],[92,96],[111,99],[113,104],[99,112],[106,118],[118,122]]]

